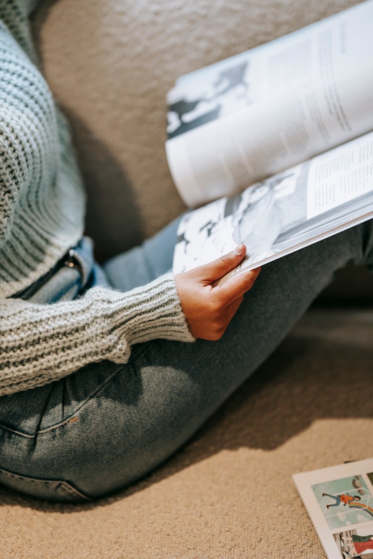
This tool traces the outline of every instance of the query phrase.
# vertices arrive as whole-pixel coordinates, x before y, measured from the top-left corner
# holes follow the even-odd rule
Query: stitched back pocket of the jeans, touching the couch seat
[[[92,501],[91,498],[64,480],[23,476],[0,468],[0,483],[36,499],[48,499],[60,503],[90,503]]]

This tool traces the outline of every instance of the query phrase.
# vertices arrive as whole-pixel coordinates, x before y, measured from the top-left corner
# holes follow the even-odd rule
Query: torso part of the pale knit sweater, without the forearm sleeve
[[[67,124],[20,47],[34,55],[26,16],[25,2],[0,6],[2,297],[48,272],[83,233],[84,195]]]

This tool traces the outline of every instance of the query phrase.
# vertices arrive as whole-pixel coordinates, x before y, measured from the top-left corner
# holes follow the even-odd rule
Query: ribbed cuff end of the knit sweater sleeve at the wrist
[[[128,301],[131,301],[128,306]],[[115,315],[114,333],[121,342],[137,344],[162,338],[194,342],[172,273],[123,294],[124,306]]]

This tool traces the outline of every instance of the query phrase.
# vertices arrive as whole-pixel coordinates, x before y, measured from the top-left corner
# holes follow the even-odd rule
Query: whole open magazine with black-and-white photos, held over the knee
[[[369,0],[177,80],[169,167],[188,206],[215,201],[182,219],[175,273],[242,242],[254,268],[373,217],[372,21]]]

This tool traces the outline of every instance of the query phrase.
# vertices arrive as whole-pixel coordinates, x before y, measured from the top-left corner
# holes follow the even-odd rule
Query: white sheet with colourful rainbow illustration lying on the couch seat
[[[292,477],[328,559],[373,559],[373,458]]]

